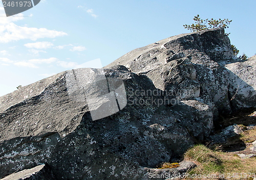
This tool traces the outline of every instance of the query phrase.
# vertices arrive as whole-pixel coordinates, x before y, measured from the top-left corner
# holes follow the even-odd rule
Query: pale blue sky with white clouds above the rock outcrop
[[[18,85],[77,67],[101,67],[99,59],[105,66],[137,47],[189,33],[183,24],[193,23],[197,14],[232,19],[226,29],[231,43],[240,55],[256,53],[256,1],[41,0],[10,17],[0,6],[0,96]]]

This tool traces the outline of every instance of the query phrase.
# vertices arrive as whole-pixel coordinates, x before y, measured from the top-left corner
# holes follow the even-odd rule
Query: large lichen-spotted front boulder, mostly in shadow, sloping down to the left
[[[194,101],[173,107],[136,104],[135,98],[163,97],[142,95],[145,90],[160,90],[144,75],[117,69],[104,70],[105,76],[124,81],[129,101],[112,116],[92,121],[87,102],[69,94],[70,71],[55,76],[39,95],[2,111],[1,175],[47,162],[58,179],[140,179],[145,167],[167,162],[193,145],[195,137],[190,133],[208,136],[213,116],[207,105]],[[15,93],[23,97],[27,93],[24,89]],[[104,104],[105,100],[101,101]],[[194,108],[198,117],[187,111]],[[176,116],[181,112],[184,117]],[[198,118],[201,124],[196,122]],[[206,131],[199,134],[200,129]]]

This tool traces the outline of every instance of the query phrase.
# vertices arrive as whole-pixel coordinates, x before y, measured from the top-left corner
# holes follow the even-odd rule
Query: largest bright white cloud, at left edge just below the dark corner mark
[[[5,11],[0,7],[0,17],[4,17]],[[10,41],[18,41],[21,39],[31,39],[33,41],[39,38],[55,38],[57,36],[65,36],[67,33],[48,30],[46,28],[28,28],[20,27],[14,24],[14,21],[24,19],[23,14],[17,14],[8,18],[1,18],[0,21],[0,42],[7,43]]]

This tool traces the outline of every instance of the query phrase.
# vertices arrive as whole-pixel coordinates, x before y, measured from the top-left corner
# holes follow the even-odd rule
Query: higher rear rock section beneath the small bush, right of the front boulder
[[[105,68],[123,65],[145,74],[172,98],[193,98],[214,112],[255,107],[255,56],[239,62],[223,29],[173,36],[132,50]]]

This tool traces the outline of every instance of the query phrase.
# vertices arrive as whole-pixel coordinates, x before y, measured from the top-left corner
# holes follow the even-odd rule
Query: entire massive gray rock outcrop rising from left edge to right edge
[[[238,62],[224,30],[214,29],[170,37],[103,69],[61,72],[2,96],[0,178],[48,163],[57,179],[147,179],[156,165],[204,141],[218,113],[255,107],[250,61]],[[249,91],[244,96],[236,93],[237,82],[240,94]],[[117,90],[122,83],[126,93]],[[108,117],[95,120],[97,113]]]

